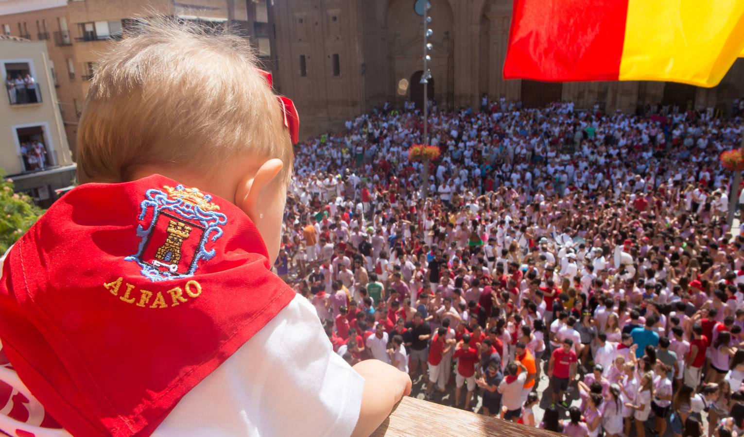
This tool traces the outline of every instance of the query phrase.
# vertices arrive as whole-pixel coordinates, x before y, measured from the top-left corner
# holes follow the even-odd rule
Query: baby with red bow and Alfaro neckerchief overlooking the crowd
[[[152,19],[100,59],[78,127],[84,184],[2,263],[0,379],[28,414],[0,414],[1,430],[367,436],[382,423],[408,375],[350,367],[269,270],[298,125],[238,36]]]

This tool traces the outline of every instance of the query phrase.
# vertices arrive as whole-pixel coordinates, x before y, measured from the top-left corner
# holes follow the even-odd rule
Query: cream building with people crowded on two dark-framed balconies
[[[73,184],[75,165],[45,42],[0,35],[0,74],[0,169],[48,207]]]

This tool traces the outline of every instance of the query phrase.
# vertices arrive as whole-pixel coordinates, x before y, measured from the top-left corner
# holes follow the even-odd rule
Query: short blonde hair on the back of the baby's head
[[[77,134],[83,181],[128,181],[138,166],[214,174],[250,152],[292,174],[276,94],[248,41],[163,16],[142,19],[97,65]]]

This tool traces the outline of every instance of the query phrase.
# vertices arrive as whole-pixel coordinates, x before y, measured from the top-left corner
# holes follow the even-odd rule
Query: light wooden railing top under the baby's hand
[[[372,436],[556,437],[559,434],[405,396]]]

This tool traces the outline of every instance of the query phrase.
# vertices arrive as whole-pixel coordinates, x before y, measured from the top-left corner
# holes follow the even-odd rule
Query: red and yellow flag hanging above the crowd
[[[711,87],[744,56],[744,0],[514,0],[504,79]]]

